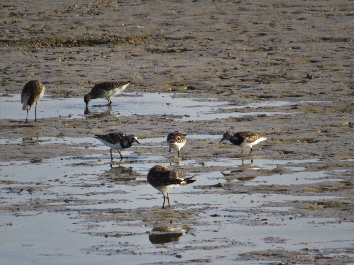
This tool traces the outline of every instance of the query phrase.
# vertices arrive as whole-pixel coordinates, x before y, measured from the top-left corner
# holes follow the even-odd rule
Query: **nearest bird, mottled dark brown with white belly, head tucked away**
[[[168,167],[161,165],[153,166],[148,173],[148,182],[150,185],[164,195],[164,203],[162,204],[162,208],[165,207],[165,192],[167,193],[167,201],[169,201],[170,207],[169,191],[179,186],[184,187],[196,181],[196,179],[192,179],[193,176],[190,178],[179,178],[178,174],[179,173],[173,169],[169,169]]]

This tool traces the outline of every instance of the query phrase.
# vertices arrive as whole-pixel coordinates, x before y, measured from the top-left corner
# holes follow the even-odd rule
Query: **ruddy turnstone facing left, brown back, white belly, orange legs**
[[[230,142],[232,142],[234,145],[240,146],[242,148],[242,151],[238,157],[240,157],[241,154],[243,154],[244,147],[251,147],[251,152],[248,155],[250,156],[250,154],[252,153],[252,146],[267,139],[267,137],[265,136],[267,135],[253,133],[253,131],[240,131],[235,134],[227,132],[224,133],[220,142],[224,140],[230,140]]]

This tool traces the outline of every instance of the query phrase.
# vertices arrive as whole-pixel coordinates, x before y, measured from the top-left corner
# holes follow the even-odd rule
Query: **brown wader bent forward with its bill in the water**
[[[84,96],[86,108],[91,99],[97,98],[107,99],[108,105],[110,106],[112,104],[112,100],[110,98],[122,92],[130,84],[130,82],[131,80],[127,82],[103,82],[96,84],[93,88],[91,88],[90,93],[87,93]]]

